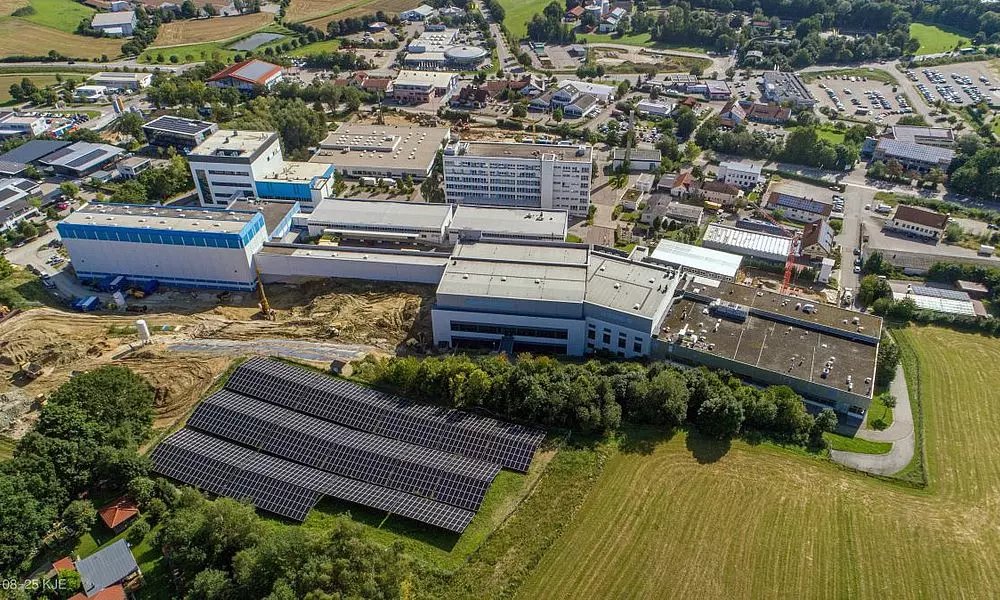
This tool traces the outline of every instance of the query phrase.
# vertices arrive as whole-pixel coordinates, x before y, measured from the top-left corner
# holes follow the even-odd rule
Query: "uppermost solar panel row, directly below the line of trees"
[[[294,411],[427,448],[525,472],[544,434],[458,410],[413,404],[398,396],[305,369],[253,359],[226,389]]]

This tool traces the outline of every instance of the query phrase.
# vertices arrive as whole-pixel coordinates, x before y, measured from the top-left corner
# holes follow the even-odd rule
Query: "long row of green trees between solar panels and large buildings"
[[[614,431],[624,420],[692,425],[717,438],[762,434],[818,445],[822,432],[837,423],[833,411],[812,417],[788,387],[761,390],[725,373],[665,363],[575,364],[527,355],[515,361],[504,356],[369,357],[356,372],[372,384],[426,402],[587,433]]]

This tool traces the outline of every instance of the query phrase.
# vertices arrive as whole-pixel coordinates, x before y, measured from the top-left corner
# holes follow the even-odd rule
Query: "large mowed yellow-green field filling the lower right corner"
[[[770,446],[639,445],[609,459],[520,597],[1000,597],[1000,393],[984,368],[1000,340],[897,336],[917,356],[927,490]]]

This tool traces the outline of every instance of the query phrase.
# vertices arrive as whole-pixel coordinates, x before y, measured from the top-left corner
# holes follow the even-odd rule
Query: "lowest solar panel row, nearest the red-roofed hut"
[[[249,498],[257,508],[302,521],[321,496],[384,510],[461,533],[475,513],[268,456],[193,429],[164,440],[157,472],[220,496]]]

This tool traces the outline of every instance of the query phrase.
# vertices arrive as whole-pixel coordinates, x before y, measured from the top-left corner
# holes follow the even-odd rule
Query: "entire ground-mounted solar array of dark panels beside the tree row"
[[[460,533],[500,466],[527,470],[543,436],[254,359],[152,459],[163,475],[299,521],[331,496]]]

